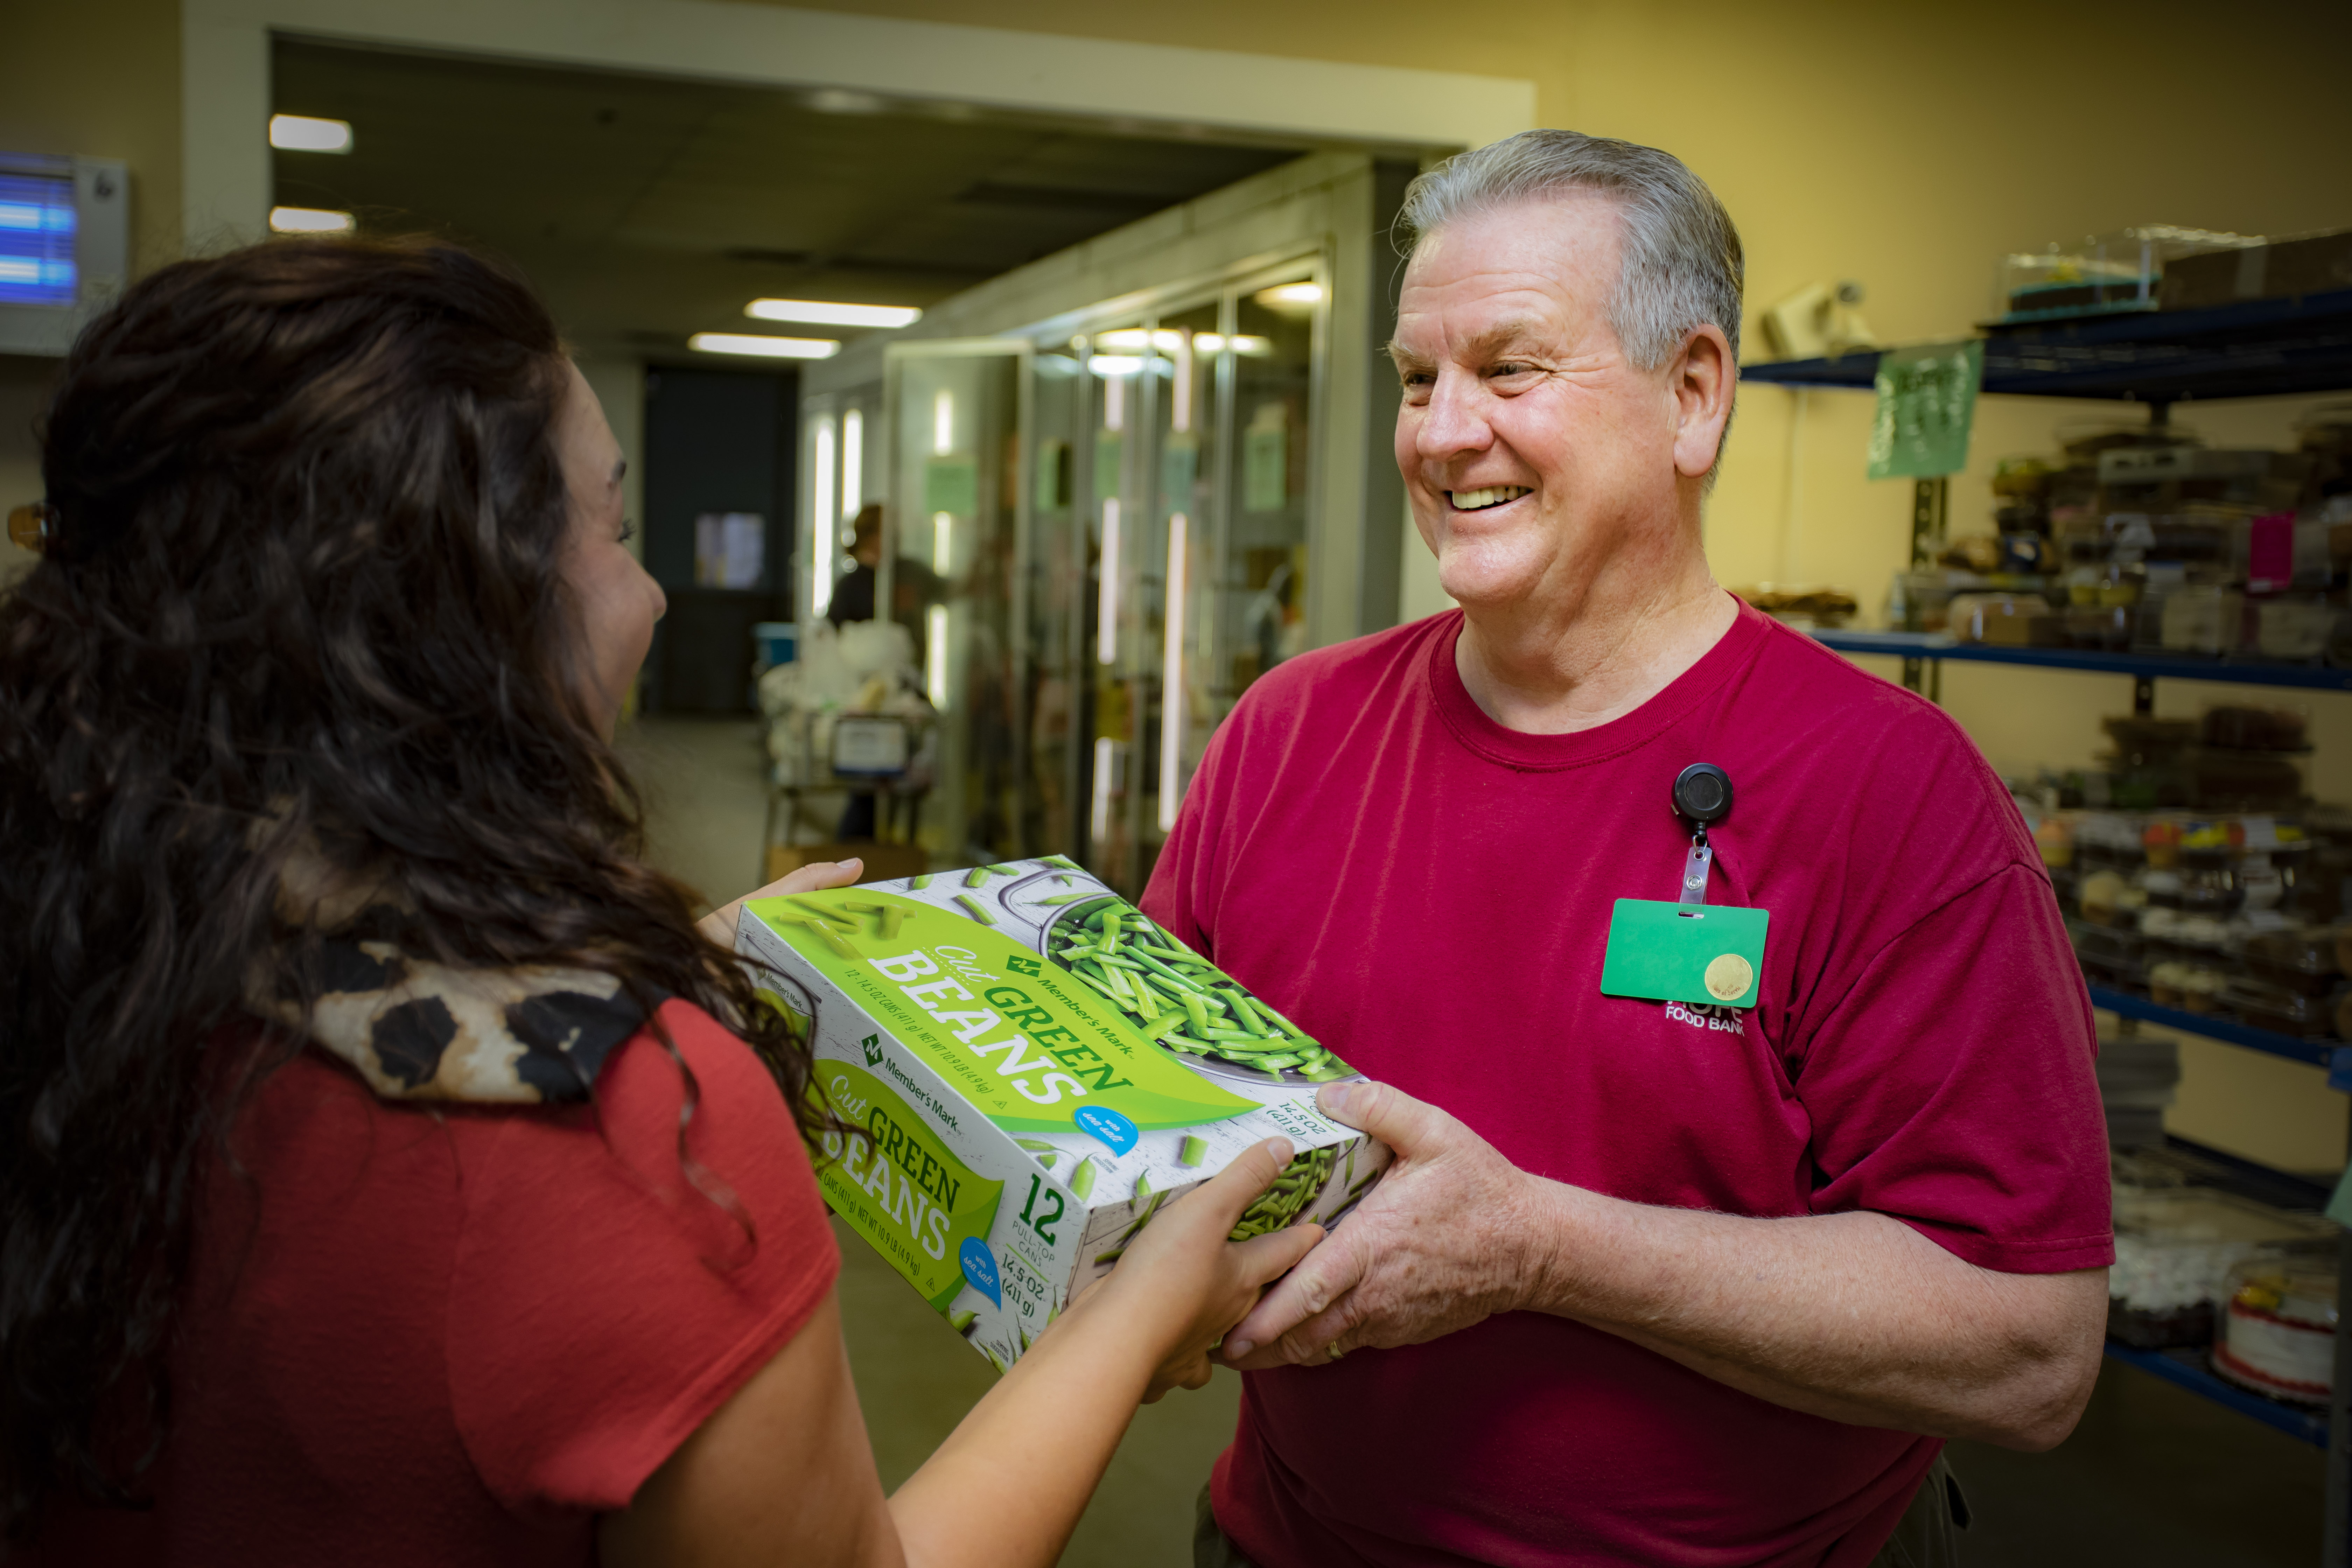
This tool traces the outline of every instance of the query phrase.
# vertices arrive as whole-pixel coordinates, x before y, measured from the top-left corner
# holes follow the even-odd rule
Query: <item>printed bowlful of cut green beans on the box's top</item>
[[[1047,933],[1047,957],[1169,1051],[1277,1077],[1289,1072],[1308,1084],[1355,1074],[1322,1041],[1122,898],[1056,893],[1040,903],[1068,905]]]

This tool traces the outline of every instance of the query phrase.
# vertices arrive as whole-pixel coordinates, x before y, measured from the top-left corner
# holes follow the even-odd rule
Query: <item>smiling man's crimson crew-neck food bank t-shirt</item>
[[[1218,729],[1145,907],[1517,1166],[1639,1204],[1870,1208],[1987,1269],[2112,1262],[2082,973],[1952,719],[1750,609],[1639,710],[1489,719],[1458,614],[1294,658]],[[1771,912],[1759,1006],[1599,994],[1616,898]],[[1512,1312],[1251,1373],[1216,1514],[1265,1568],[1867,1563],[1936,1439],[1799,1415]]]

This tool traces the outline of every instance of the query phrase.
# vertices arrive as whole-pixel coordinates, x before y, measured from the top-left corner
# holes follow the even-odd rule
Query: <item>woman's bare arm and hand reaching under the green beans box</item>
[[[840,1302],[652,1474],[597,1547],[609,1568],[1018,1568],[1061,1556],[1136,1403],[1209,1382],[1209,1347],[1322,1229],[1230,1244],[1282,1171],[1279,1138],[1155,1218],[941,1443],[882,1497]]]

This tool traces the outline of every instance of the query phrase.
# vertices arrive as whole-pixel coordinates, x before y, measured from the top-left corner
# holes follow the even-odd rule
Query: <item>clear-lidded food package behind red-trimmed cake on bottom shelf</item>
[[[2114,1187],[2107,1333],[2124,1345],[2209,1345],[2232,1269],[2265,1241],[2314,1241],[2326,1220],[2209,1187]]]

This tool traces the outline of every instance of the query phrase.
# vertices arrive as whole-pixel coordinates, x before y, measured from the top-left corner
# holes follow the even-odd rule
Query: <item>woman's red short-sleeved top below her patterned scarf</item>
[[[637,1034],[590,1107],[390,1105],[306,1053],[216,1171],[151,1514],[61,1507],[31,1561],[593,1563],[595,1516],[800,1331],[840,1269],[757,1056]],[[602,1131],[597,1128],[602,1112]]]

